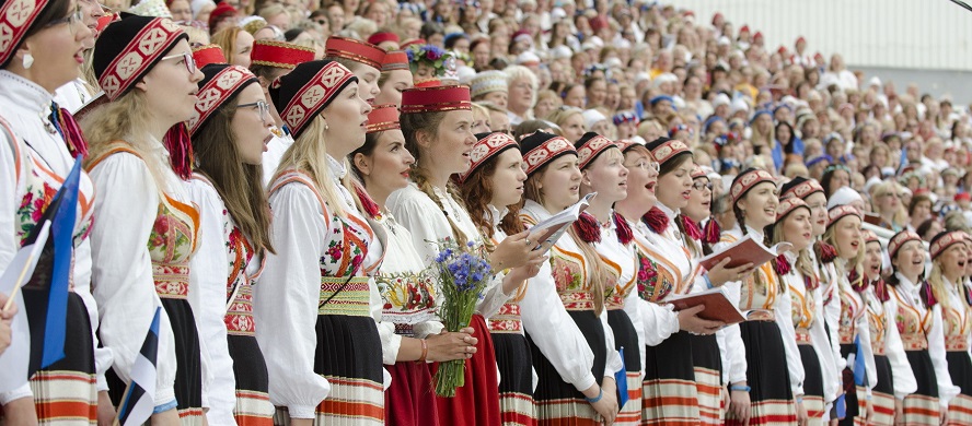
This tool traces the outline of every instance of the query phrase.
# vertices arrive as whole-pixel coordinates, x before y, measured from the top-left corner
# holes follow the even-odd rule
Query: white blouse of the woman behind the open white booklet
[[[529,223],[537,223],[551,216],[542,205],[533,200],[526,200],[520,214]],[[580,253],[574,239],[569,235],[563,236],[555,246],[567,252]],[[591,351],[587,339],[574,319],[564,308],[564,301],[557,294],[557,284],[554,281],[549,262],[544,262],[540,273],[530,279],[526,284],[526,293],[520,301],[523,312],[544,312],[544,315],[523,316],[523,328],[530,334],[533,344],[556,368],[560,378],[574,384],[578,391],[583,391],[594,383],[600,384],[600,378],[591,374],[594,365],[594,353]],[[605,347],[608,360],[604,368],[604,377],[614,377],[614,372],[624,368],[617,351],[614,351],[614,332],[608,324],[606,309],[601,312],[601,323],[604,328]],[[556,330],[552,333],[551,330]]]

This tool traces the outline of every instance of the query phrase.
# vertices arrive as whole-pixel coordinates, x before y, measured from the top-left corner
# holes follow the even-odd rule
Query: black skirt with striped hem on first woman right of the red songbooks
[[[752,388],[749,424],[796,424],[794,392],[779,327],[772,321],[747,321],[739,324],[739,329],[745,344],[747,384]],[[741,425],[742,422],[727,413],[726,424]]]

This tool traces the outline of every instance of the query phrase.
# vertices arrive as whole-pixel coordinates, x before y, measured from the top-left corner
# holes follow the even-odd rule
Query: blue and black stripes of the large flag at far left
[[[65,179],[44,211],[40,222],[50,221],[50,238],[31,280],[24,285],[24,310],[31,324],[31,364],[27,375],[65,357],[68,321],[68,292],[74,251],[74,222],[78,216],[78,182],[81,161]],[[36,229],[36,226],[34,227]],[[33,234],[33,232],[32,232]],[[31,238],[27,242],[32,242]]]

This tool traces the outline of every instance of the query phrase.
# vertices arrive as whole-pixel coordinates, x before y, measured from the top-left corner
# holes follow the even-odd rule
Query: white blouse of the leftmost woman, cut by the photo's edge
[[[73,167],[74,158],[68,152],[65,140],[59,134],[50,133],[45,129],[53,99],[50,93],[5,70],[0,70],[0,88],[2,88],[0,90],[0,117],[7,121],[18,139],[8,143],[5,131],[0,132],[0,138],[4,139],[0,141],[0,170],[2,170],[0,193],[3,194],[0,197],[0,227],[13,230],[16,228],[16,214],[22,201],[20,197],[28,190],[26,175],[35,169],[33,163],[37,162],[62,179]],[[11,144],[18,145],[19,159],[10,150]],[[18,163],[21,166],[20,169],[15,166]],[[38,173],[44,174],[43,171]],[[84,171],[81,173],[79,191],[79,204],[92,201],[90,198],[95,193],[94,185]],[[79,206],[76,229],[81,229],[90,224],[91,217],[85,216],[82,209],[83,206]],[[15,232],[0,237],[0,265],[2,265],[0,270],[7,268],[20,248],[20,238]],[[97,347],[97,304],[91,295],[91,241],[88,238],[84,238],[74,248],[71,275],[71,289],[84,301],[91,320],[97,387],[100,390],[106,390],[108,386],[104,374],[112,365],[112,352]],[[21,306],[20,309],[23,310],[24,307]],[[32,395],[30,384],[24,384],[20,389],[0,393],[0,404]]]

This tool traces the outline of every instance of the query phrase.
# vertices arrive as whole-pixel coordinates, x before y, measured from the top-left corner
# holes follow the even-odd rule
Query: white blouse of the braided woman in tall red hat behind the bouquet
[[[467,240],[483,241],[476,224],[465,208],[444,190],[436,187],[432,190],[442,205],[441,209],[415,184],[408,184],[407,187],[392,192],[385,203],[389,211],[412,232],[413,245],[425,264],[432,264],[439,253],[439,240],[452,237],[449,218],[455,223]],[[512,295],[502,293],[502,274],[497,274],[487,284],[483,298],[476,305],[476,313],[488,319],[509,300]]]

